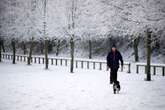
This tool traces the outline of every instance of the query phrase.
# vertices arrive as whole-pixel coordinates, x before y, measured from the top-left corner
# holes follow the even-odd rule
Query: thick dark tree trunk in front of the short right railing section
[[[146,32],[146,51],[147,51],[147,67],[146,67],[146,74],[147,74],[147,81],[151,81],[151,32],[147,30]]]

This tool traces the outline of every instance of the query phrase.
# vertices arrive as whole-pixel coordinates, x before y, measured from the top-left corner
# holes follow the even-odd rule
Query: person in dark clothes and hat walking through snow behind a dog
[[[123,68],[123,58],[121,53],[117,50],[116,46],[113,45],[111,51],[107,56],[107,66],[110,68],[110,84],[117,81],[117,72],[119,69],[119,60]]]

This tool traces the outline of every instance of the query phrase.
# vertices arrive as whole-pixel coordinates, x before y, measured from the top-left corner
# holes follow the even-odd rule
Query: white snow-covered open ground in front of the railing
[[[119,72],[113,94],[109,72],[25,63],[0,63],[0,110],[165,110],[165,77]]]

